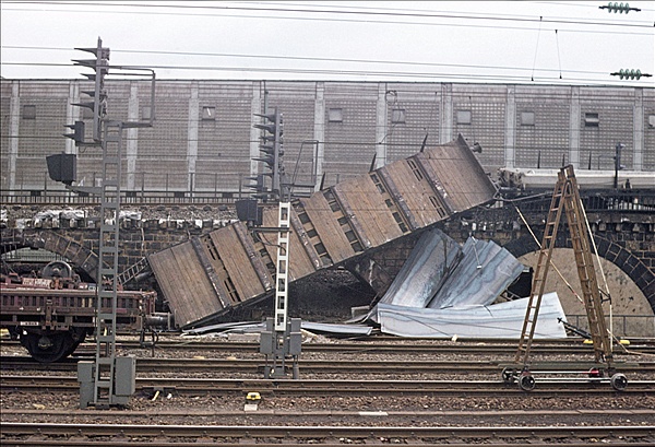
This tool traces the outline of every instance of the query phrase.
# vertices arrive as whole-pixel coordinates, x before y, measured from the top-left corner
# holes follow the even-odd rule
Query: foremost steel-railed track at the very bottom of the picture
[[[2,433],[12,436],[58,436],[68,437],[116,437],[151,438],[160,442],[170,438],[235,438],[255,440],[275,438],[277,442],[294,439],[325,439],[380,443],[381,438],[441,442],[465,442],[474,439],[501,440],[523,439],[579,439],[592,438],[621,439],[627,437],[652,442],[655,426],[252,426],[252,425],[135,425],[135,424],[31,424],[20,422],[2,423]],[[163,439],[164,438],[164,439]],[[61,442],[61,440],[60,440]],[[450,444],[449,445],[452,445]],[[5,443],[3,442],[3,445]],[[32,444],[34,445],[34,444]],[[116,444],[111,444],[116,445]],[[176,443],[176,445],[179,445]],[[193,445],[198,445],[194,443]],[[221,444],[223,445],[223,444]]]

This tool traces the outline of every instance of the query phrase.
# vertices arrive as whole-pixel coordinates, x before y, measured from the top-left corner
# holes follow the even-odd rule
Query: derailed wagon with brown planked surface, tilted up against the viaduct
[[[291,203],[289,282],[343,264],[493,199],[460,136]],[[263,211],[277,225],[277,209]],[[151,255],[180,327],[199,326],[274,292],[276,238],[237,222]]]

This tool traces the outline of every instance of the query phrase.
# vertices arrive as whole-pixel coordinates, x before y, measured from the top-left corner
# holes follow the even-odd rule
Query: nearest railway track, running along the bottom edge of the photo
[[[252,425],[129,425],[129,424],[28,424],[3,423],[3,446],[95,446],[129,447],[175,442],[176,446],[382,446],[493,444],[495,446],[552,445],[583,446],[609,439],[632,440],[632,446],[651,446],[655,426],[252,426]],[[106,440],[104,440],[106,439]],[[548,443],[546,442],[548,440]],[[85,444],[86,443],[86,444]]]

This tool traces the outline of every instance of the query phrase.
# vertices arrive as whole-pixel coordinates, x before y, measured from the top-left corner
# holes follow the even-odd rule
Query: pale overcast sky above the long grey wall
[[[5,79],[80,79],[98,36],[157,79],[654,86],[655,2],[1,1]],[[557,32],[556,32],[557,31]],[[561,75],[561,80],[560,80]]]

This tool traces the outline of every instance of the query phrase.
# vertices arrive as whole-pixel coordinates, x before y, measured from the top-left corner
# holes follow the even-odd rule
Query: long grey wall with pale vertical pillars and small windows
[[[47,178],[46,155],[76,153],[84,185],[99,176],[99,151],[62,137],[87,122],[72,106],[91,83],[2,80],[2,177],[5,190],[61,189]],[[107,81],[108,117],[150,117],[150,84]],[[267,92],[267,95],[265,95]],[[611,169],[617,142],[628,169],[655,172],[655,89],[511,84],[158,81],[156,121],[126,133],[122,187],[129,190],[238,191],[262,169],[264,103],[284,115],[287,173],[333,185],[462,133],[483,153],[486,169],[575,167]],[[595,120],[595,121],[594,121]],[[596,126],[597,125],[597,126]],[[298,162],[298,163],[297,163]],[[317,174],[317,176],[313,176]]]

